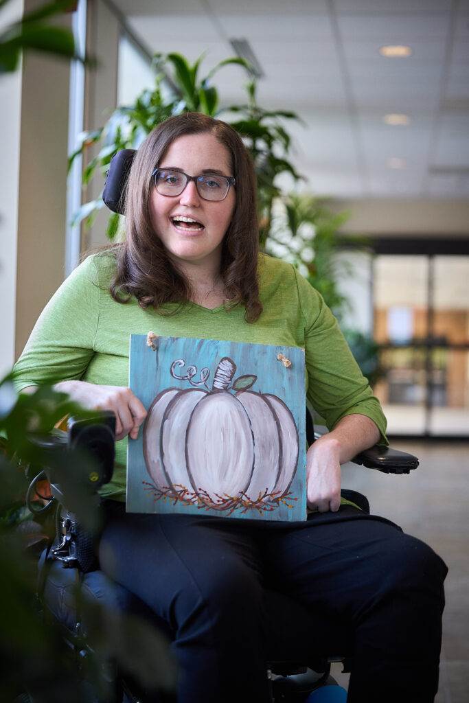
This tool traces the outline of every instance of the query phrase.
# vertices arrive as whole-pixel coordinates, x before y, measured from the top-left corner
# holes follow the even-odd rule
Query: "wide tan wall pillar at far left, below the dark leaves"
[[[25,11],[37,7],[25,0]],[[64,18],[70,25],[70,15]],[[23,61],[15,355],[64,278],[70,65],[39,53]]]

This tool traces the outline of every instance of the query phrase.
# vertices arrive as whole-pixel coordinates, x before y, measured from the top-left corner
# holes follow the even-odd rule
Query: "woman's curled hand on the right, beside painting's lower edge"
[[[307,505],[319,512],[340,507],[340,443],[327,434],[316,439],[306,456]]]

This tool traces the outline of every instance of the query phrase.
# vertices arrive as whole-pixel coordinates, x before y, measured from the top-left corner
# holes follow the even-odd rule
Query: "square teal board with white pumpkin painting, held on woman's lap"
[[[129,512],[305,520],[304,349],[131,335]]]

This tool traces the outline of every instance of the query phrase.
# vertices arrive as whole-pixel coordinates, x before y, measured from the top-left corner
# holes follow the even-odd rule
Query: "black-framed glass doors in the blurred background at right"
[[[378,254],[375,386],[390,434],[469,436],[469,256]]]

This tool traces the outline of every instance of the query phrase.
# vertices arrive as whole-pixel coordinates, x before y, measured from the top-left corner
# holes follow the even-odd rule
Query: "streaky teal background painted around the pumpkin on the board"
[[[214,373],[219,361],[228,356],[236,363],[234,379],[241,375],[256,375],[257,380],[251,391],[273,394],[283,400],[290,409],[299,436],[299,455],[297,469],[290,485],[289,505],[279,504],[271,512],[262,515],[257,509],[231,513],[230,517],[266,520],[305,520],[306,510],[306,432],[305,432],[305,371],[304,350],[297,347],[282,347],[268,344],[247,344],[224,342],[219,340],[197,340],[181,337],[157,337],[154,340],[157,349],[147,345],[146,335],[131,335],[129,387],[150,408],[158,394],[166,388],[189,389],[188,380],[176,380],[170,373],[176,359],[184,359],[184,368],[176,368],[177,375],[185,375],[189,366],[195,366],[197,373],[193,380],[199,380],[200,371],[206,367],[210,370],[207,385],[212,388]],[[292,363],[285,368],[277,360],[283,354]],[[204,386],[201,386],[205,388]],[[234,391],[232,391],[234,394]],[[181,441],[183,441],[181,439]],[[172,503],[163,498],[154,500],[150,477],[143,456],[143,431],[139,439],[129,439],[127,453],[127,510],[129,512],[198,512],[205,515],[226,517],[226,511],[213,508],[198,508],[196,505],[184,505],[181,501]],[[297,498],[292,501],[291,498]]]

